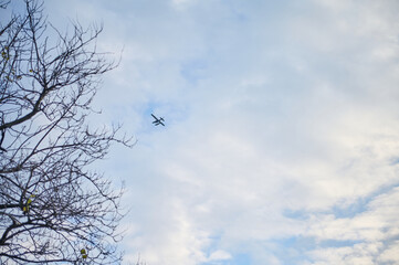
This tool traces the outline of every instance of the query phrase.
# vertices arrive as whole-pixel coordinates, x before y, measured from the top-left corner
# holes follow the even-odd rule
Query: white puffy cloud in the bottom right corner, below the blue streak
[[[380,264],[397,262],[399,189],[376,197],[364,212],[354,218],[318,216],[308,236],[317,241],[346,242],[344,247],[318,247],[311,252],[314,264]],[[355,242],[355,243],[350,243]],[[356,243],[361,242],[361,243]]]

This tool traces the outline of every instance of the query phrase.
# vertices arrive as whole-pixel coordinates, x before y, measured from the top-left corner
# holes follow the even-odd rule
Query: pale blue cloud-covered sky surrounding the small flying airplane
[[[397,0],[45,10],[122,57],[94,105],[137,139],[98,163],[125,183],[124,264],[399,263]]]

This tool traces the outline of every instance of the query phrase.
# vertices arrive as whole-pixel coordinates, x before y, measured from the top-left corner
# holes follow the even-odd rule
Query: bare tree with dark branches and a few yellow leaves
[[[115,64],[96,51],[101,26],[61,33],[42,2],[23,2],[0,20],[0,263],[116,264],[122,190],[88,166],[132,142],[87,125]]]

